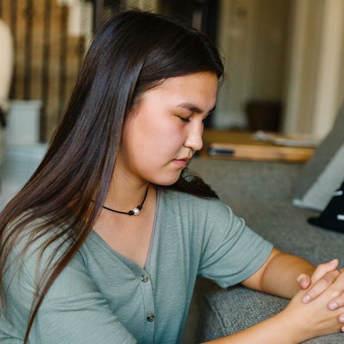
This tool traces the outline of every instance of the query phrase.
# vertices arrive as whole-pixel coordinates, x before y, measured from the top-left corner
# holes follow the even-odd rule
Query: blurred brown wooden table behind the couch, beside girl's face
[[[272,162],[305,162],[314,153],[310,147],[287,147],[255,140],[254,133],[241,131],[204,130],[203,157],[232,160],[261,160]],[[212,154],[212,151],[223,153]]]

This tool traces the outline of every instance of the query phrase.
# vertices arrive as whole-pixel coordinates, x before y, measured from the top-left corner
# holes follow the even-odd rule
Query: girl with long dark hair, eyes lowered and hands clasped
[[[138,11],[103,25],[45,158],[1,213],[1,343],[180,343],[197,275],[293,297],[219,342],[341,330],[338,261],[314,271],[272,248],[186,169],[222,74],[193,28]]]

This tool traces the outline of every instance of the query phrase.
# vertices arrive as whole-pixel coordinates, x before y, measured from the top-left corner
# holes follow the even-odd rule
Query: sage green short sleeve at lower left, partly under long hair
[[[30,246],[24,256],[18,255],[20,245],[13,248],[2,283],[7,293],[6,308],[0,319],[1,331],[13,334],[15,330],[17,338],[25,334],[36,289],[37,245]],[[42,264],[51,257],[54,249],[51,246],[42,256]],[[107,300],[89,277],[80,252],[69,261],[47,292],[29,341],[34,344],[137,343],[109,309]]]

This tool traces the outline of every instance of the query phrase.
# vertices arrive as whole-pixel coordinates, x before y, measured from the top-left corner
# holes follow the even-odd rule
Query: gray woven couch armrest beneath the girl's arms
[[[244,330],[281,312],[288,302],[288,299],[255,292],[242,286],[206,295],[198,324],[197,343]],[[344,334],[321,336],[303,343],[341,344],[344,343]]]

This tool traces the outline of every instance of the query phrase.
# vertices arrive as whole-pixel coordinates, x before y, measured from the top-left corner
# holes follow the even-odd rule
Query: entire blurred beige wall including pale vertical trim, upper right
[[[227,82],[215,127],[244,127],[248,100],[282,100],[283,131],[330,131],[344,102],[344,0],[221,0]]]

